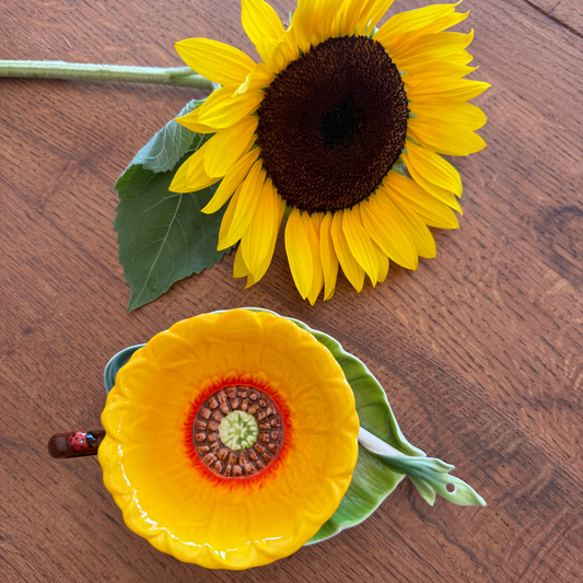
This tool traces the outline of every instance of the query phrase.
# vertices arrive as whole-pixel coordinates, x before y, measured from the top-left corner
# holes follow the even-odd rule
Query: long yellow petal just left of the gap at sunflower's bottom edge
[[[241,238],[243,259],[252,273],[256,273],[265,258],[273,253],[281,222],[280,210],[281,197],[268,178],[249,226]]]

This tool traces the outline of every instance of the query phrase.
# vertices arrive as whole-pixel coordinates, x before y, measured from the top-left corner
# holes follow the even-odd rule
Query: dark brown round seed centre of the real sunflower
[[[381,43],[328,38],[266,89],[257,143],[267,175],[291,207],[334,211],[360,202],[398,160],[407,95]]]

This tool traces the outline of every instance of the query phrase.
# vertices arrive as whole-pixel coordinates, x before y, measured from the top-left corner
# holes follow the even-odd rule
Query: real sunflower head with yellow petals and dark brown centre
[[[222,85],[177,119],[213,136],[171,185],[221,180],[203,209],[226,207],[219,249],[241,242],[234,276],[265,275],[285,208],[285,250],[303,299],[334,294],[340,265],[361,291],[389,260],[434,257],[428,226],[456,229],[462,180],[440,154],[485,148],[485,114],[467,102],[488,83],[466,50],[474,33],[444,32],[467,14],[434,4],[376,24],[393,0],[299,0],[285,30],[264,0],[242,0],[243,27],[263,62],[206,38],[176,44]],[[453,210],[452,210],[453,209]]]

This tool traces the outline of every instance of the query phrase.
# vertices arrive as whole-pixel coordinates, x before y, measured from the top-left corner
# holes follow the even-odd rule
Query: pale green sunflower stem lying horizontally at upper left
[[[60,79],[65,81],[105,81],[152,83],[213,91],[217,85],[189,67],[127,67],[65,61],[0,60],[0,77],[25,79]]]

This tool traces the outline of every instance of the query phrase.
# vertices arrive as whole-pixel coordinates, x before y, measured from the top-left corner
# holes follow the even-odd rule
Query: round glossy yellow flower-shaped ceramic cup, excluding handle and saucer
[[[102,415],[104,482],[155,548],[211,569],[287,557],[334,514],[358,457],[340,364],[308,331],[232,310],[154,336]]]

